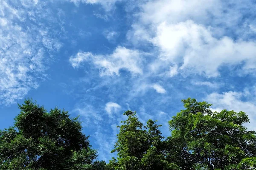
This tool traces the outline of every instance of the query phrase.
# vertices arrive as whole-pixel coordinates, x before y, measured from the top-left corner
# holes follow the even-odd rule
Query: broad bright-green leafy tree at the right
[[[180,141],[178,148],[194,162],[188,169],[255,168],[256,133],[244,127],[243,124],[249,122],[246,113],[213,112],[209,109],[211,104],[197,102],[196,99],[182,102],[186,109],[169,121],[172,129],[170,139]]]

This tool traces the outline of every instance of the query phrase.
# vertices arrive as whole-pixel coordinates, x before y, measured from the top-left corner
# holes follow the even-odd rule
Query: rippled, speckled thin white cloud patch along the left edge
[[[36,1],[0,1],[0,104],[10,105],[37,88],[38,78],[45,77],[47,51],[61,48],[47,28],[32,24],[42,17],[37,16],[41,8]]]

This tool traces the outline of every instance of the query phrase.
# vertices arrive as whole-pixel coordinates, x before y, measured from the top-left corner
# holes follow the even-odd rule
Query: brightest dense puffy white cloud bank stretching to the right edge
[[[161,60],[183,63],[179,69],[185,72],[216,77],[222,65],[241,62],[245,63],[244,71],[256,68],[255,42],[234,41],[230,37],[217,39],[207,28],[192,21],[160,24],[152,42],[159,48]]]

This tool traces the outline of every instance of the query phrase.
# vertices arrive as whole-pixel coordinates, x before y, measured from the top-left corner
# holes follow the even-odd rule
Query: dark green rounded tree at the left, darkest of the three
[[[78,117],[58,108],[47,113],[31,99],[19,108],[14,127],[0,131],[0,169],[93,170],[99,164]]]

